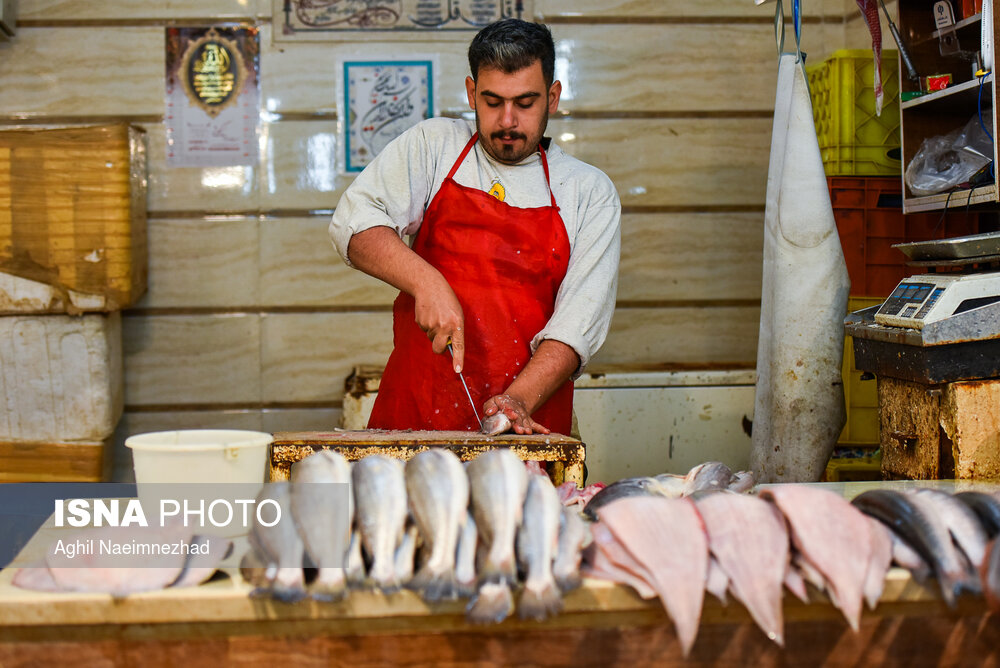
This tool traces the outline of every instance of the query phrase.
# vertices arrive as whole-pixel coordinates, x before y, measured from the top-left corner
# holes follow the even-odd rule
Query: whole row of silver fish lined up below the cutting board
[[[323,450],[294,464],[290,483],[266,485],[264,499],[291,519],[254,525],[242,572],[286,602],[405,586],[428,602],[468,597],[468,619],[488,623],[511,614],[520,590],[520,615],[544,619],[579,585],[590,538],[548,476],[502,449],[467,465],[444,449],[405,465],[381,455],[351,465]],[[306,567],[316,569],[309,582]]]

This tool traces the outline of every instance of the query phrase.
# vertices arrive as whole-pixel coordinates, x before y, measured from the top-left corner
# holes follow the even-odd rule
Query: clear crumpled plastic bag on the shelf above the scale
[[[993,141],[973,116],[964,128],[920,144],[906,166],[906,185],[918,197],[936,195],[965,183],[992,159]]]

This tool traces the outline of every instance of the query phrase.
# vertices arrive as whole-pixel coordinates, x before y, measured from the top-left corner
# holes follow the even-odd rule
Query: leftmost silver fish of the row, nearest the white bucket
[[[292,519],[291,484],[272,482],[264,485],[257,495],[257,507],[270,501],[281,509],[281,517],[273,526],[254,521],[248,539],[250,545],[273,573],[271,595],[279,601],[293,603],[306,597],[306,583],[302,571],[305,547]],[[270,516],[268,516],[270,517]]]

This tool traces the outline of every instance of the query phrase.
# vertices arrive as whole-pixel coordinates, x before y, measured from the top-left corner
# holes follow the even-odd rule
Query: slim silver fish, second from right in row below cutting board
[[[552,575],[559,544],[562,506],[548,476],[533,475],[524,499],[524,520],[517,532],[517,556],[525,572],[518,604],[522,619],[543,620],[562,610],[562,597]]]

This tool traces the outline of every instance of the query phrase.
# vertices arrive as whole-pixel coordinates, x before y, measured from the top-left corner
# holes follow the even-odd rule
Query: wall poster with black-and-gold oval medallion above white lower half
[[[257,163],[257,28],[167,28],[169,167]]]

